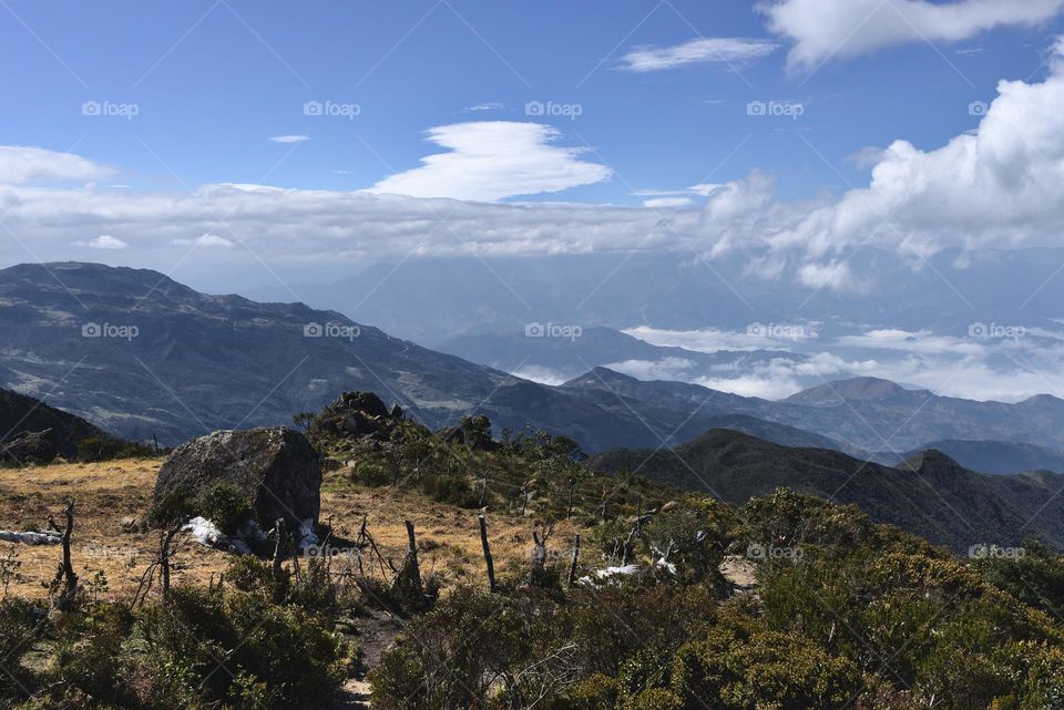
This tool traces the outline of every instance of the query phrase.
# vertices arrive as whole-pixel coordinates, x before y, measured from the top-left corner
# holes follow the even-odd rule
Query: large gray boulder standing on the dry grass
[[[193,439],[175,449],[160,469],[155,506],[195,501],[217,483],[243,492],[253,518],[264,529],[280,517],[290,531],[309,532],[318,524],[321,465],[310,442],[297,431],[265,426]]]

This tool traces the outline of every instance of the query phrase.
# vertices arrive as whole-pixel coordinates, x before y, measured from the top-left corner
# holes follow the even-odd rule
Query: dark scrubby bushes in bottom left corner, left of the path
[[[228,584],[175,587],[143,604],[104,600],[92,586],[62,604],[4,599],[0,704],[320,708],[357,660],[337,625],[358,601],[323,604],[317,564],[278,582],[265,563],[236,558]]]

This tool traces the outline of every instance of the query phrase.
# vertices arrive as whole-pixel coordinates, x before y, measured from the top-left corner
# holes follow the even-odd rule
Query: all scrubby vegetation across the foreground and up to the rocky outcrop
[[[780,490],[736,507],[595,473],[565,438],[388,416],[367,436],[305,419],[325,485],[524,521],[493,590],[399,584],[409,559],[247,556],[136,603],[102,579],[66,604],[4,598],[0,706],[327,708],[358,667],[347,631],[381,607],[408,619],[369,675],[385,710],[1064,708],[1064,562],[1037,541],[960,558],[855,506]],[[241,519],[227,491],[206,498]]]

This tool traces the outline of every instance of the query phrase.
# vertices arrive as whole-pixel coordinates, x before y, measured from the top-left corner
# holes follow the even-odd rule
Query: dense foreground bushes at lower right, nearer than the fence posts
[[[702,505],[688,500],[673,514],[704,515]],[[853,508],[786,492],[732,513],[703,526],[685,556],[669,557],[675,570],[654,566],[662,533],[647,525],[634,555],[640,574],[553,594],[453,590],[386,655],[372,676],[375,703],[1064,707],[1064,630],[1055,599],[1033,591],[1060,578],[1058,558],[969,564]],[[684,532],[697,525],[671,527],[696,539]],[[757,594],[733,595],[706,574],[712,549],[758,544],[776,552],[753,555]]]

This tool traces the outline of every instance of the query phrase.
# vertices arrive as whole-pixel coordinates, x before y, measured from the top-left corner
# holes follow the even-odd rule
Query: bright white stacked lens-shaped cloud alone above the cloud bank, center
[[[613,175],[605,165],[581,160],[582,148],[553,145],[561,132],[540,123],[473,121],[437,126],[428,140],[447,153],[374,185],[375,194],[453,197],[495,202],[515,195],[557,193]]]

